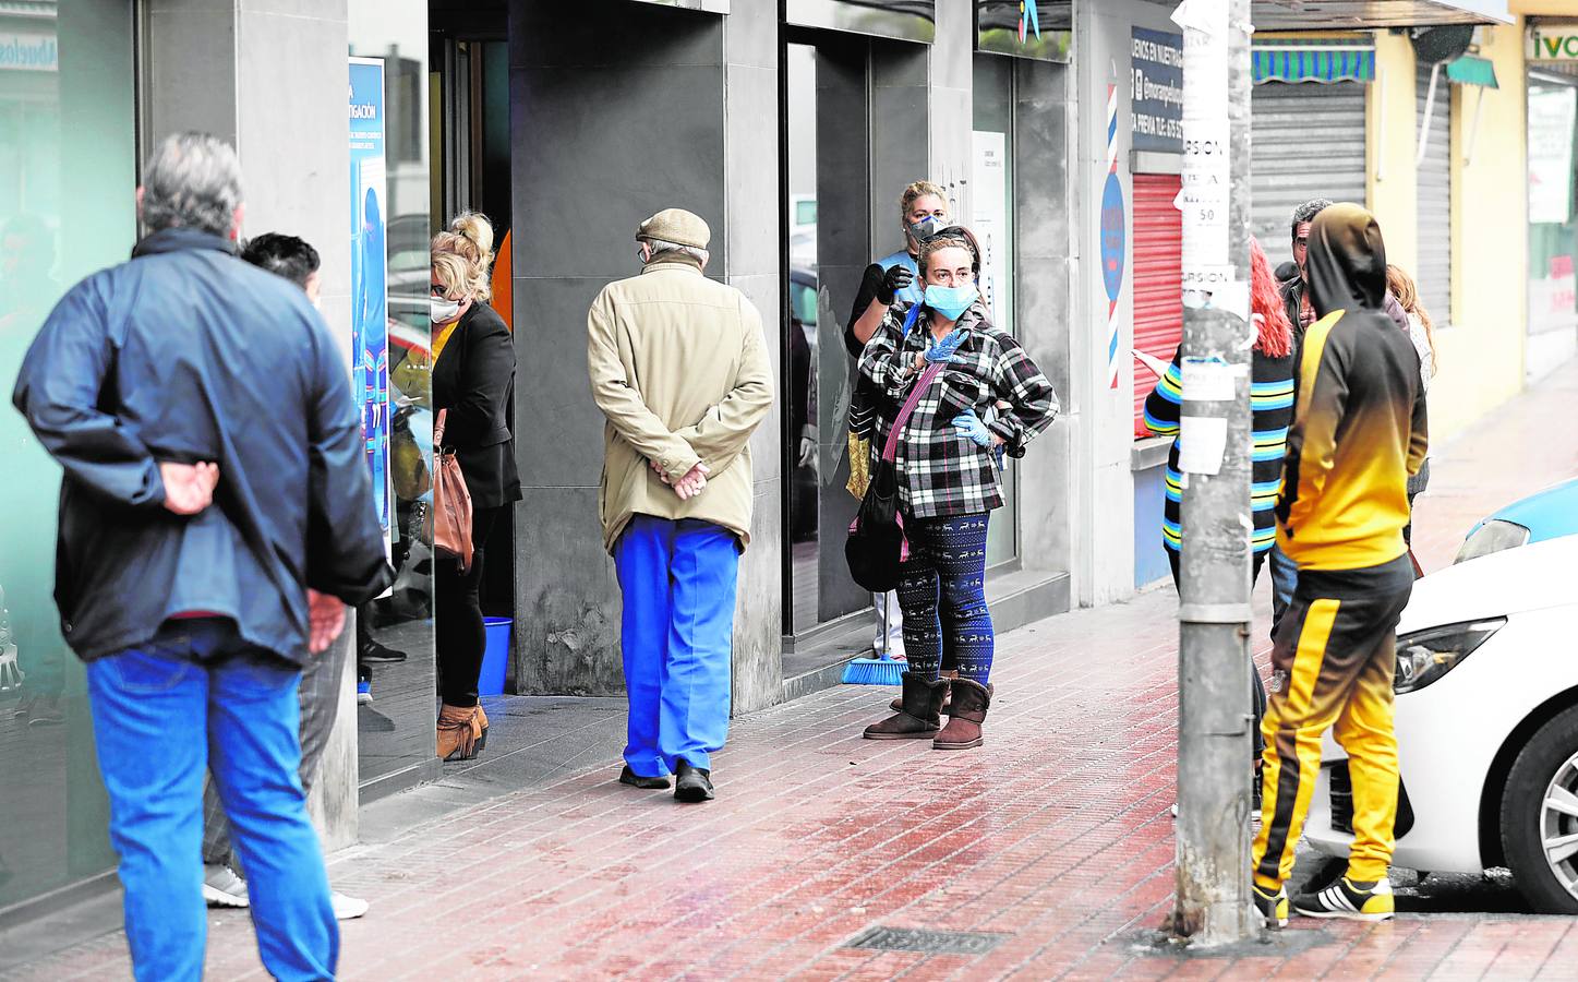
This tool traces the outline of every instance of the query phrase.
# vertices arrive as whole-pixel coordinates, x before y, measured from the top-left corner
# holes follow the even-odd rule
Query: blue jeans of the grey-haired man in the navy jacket
[[[87,666],[136,977],[202,977],[202,786],[211,769],[264,966],[282,980],[333,979],[339,928],[297,775],[301,673],[245,650],[226,620],[172,624]]]

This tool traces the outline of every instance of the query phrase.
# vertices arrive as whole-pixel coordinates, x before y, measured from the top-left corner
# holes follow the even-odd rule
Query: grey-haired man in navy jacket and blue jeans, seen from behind
[[[349,373],[300,289],[235,256],[235,152],[166,139],[148,237],[55,306],[13,401],[65,467],[55,600],[87,662],[139,979],[199,979],[204,770],[246,865],[259,954],[335,976],[297,775],[301,665],[391,572]]]

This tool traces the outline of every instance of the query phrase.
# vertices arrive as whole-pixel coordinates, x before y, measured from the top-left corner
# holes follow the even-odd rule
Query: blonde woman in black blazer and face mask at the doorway
[[[472,565],[451,556],[434,564],[437,619],[439,756],[470,759],[483,748],[488,717],[477,701],[486,632],[478,597],[483,546],[497,518],[521,500],[514,467],[514,341],[488,306],[492,226],[464,213],[432,237],[432,406],[445,415],[443,447],[453,448],[472,496]]]

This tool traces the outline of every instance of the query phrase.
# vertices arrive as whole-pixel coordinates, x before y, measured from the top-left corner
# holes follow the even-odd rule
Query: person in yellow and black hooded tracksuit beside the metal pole
[[[1384,313],[1385,246],[1370,212],[1324,208],[1307,265],[1319,317],[1303,339],[1277,542],[1299,567],[1278,625],[1262,733],[1261,830],[1255,903],[1267,927],[1288,924],[1284,883],[1321,772],[1321,736],[1335,726],[1354,789],[1346,875],[1300,894],[1308,917],[1384,920],[1393,914],[1392,827],[1397,734],[1392,684],[1397,622],[1414,567],[1403,542],[1408,478],[1425,459],[1419,354]]]

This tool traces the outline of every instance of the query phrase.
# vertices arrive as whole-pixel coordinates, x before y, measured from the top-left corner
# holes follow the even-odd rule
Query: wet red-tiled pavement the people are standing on
[[[1578,433],[1553,425],[1575,396],[1567,373],[1436,453],[1428,568],[1486,510],[1578,474]],[[892,690],[841,687],[737,720],[709,805],[615,785],[608,761],[342,854],[336,886],[372,901],[344,925],[342,976],[1578,977],[1562,917],[1296,919],[1324,943],[1237,958],[1146,947],[1172,895],[1172,614],[1152,590],[1002,638],[982,750],[860,740]],[[873,925],[1005,938],[985,955],[846,947]],[[19,977],[125,973],[115,935]],[[245,914],[211,917],[208,976],[264,977]]]

